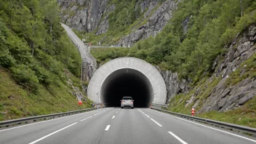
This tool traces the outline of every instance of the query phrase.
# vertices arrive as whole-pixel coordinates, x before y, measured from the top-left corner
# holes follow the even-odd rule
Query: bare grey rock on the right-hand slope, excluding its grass
[[[246,72],[245,68],[247,65],[241,65],[241,63],[255,54],[255,40],[256,24],[252,24],[244,33],[239,33],[236,38],[233,39],[228,48],[228,52],[225,55],[220,55],[216,58],[215,63],[212,65],[215,73],[213,73],[213,75],[199,88],[189,89],[194,90],[195,92],[185,101],[184,107],[190,105],[191,107],[196,108],[199,106],[200,109],[197,113],[207,111],[223,112],[238,108],[251,100],[252,97],[255,97],[256,79],[247,77],[235,85],[227,84],[228,77],[230,77],[231,73],[236,71],[237,68],[240,69],[240,76],[243,76]],[[255,71],[254,69],[255,68],[252,68],[250,71]],[[209,84],[212,84],[213,79],[220,80],[215,87],[211,89],[209,95],[207,95],[207,97],[201,101],[201,104],[199,104],[200,92],[204,92],[204,89],[206,89]],[[185,92],[186,91],[187,90],[185,90]],[[176,92],[176,90],[174,92]]]

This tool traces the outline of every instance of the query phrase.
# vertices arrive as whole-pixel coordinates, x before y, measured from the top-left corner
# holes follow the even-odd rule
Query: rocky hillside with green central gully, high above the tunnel
[[[92,44],[131,47],[156,36],[172,18],[180,0],[58,0],[61,20],[84,34]]]

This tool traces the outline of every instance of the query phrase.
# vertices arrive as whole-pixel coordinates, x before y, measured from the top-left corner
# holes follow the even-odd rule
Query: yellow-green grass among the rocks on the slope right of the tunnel
[[[244,73],[241,73],[241,71],[244,71]],[[242,81],[244,79],[255,79],[256,78],[256,54],[252,55],[248,60],[244,61],[244,63],[241,63],[239,68],[236,69],[236,71],[233,71],[229,78],[225,81],[225,84],[228,86],[233,86],[235,84],[238,84],[239,81]],[[172,98],[169,108],[169,111],[174,111],[177,113],[184,113],[191,115],[191,107],[195,104],[196,100],[199,101],[199,105],[196,107],[196,110],[199,110],[204,105],[204,101],[207,100],[207,96],[210,92],[212,92],[212,89],[219,83],[220,78],[215,78],[212,80],[210,84],[207,84],[207,77],[204,79],[201,79],[196,86],[191,89],[190,92],[187,94],[180,94],[176,95]],[[205,88],[205,86],[208,86]],[[186,100],[189,100],[191,98],[191,95],[193,95],[196,92],[196,89],[199,89],[201,87],[201,92],[199,92],[199,95],[196,96],[196,98],[193,100],[193,103],[191,105],[188,105],[185,107]],[[183,99],[181,102],[180,100]],[[180,102],[180,103],[179,103]],[[218,111],[209,111],[207,113],[199,113],[196,116],[205,118],[205,119],[213,119],[217,121],[224,121],[231,124],[239,124],[247,127],[255,127],[256,128],[256,95],[252,98],[252,100],[249,100],[247,103],[242,105],[239,108],[233,109],[231,111],[226,112],[218,112]]]

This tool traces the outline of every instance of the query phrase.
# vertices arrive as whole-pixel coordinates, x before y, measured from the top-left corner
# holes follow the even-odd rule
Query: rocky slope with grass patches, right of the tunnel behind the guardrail
[[[171,100],[170,105],[194,107],[197,113],[207,111],[230,111],[239,108],[256,96],[256,24],[252,24],[244,33],[239,33],[224,55],[219,55],[212,69],[215,71],[208,79],[203,79],[196,87],[183,88],[184,82],[170,79],[167,89],[185,92],[183,97]],[[172,76],[176,77],[174,73]],[[170,76],[170,78],[172,78]],[[168,79],[169,76],[164,76]],[[174,81],[174,83],[172,82]],[[189,83],[188,83],[189,84]],[[181,87],[180,87],[181,86]],[[183,88],[183,89],[182,89]],[[187,93],[186,93],[187,92]],[[168,95],[169,96],[169,95]]]

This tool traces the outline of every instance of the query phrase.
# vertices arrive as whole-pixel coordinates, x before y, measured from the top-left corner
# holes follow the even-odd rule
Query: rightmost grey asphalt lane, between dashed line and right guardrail
[[[250,140],[243,139],[241,137],[236,137],[233,135],[229,135],[225,132],[219,132],[214,129],[209,129],[210,127],[204,127],[204,124],[193,124],[188,122],[188,120],[183,121],[180,118],[175,118],[175,116],[169,116],[166,113],[160,113],[158,111],[153,111],[148,108],[141,109],[145,114],[151,116],[151,118],[159,121],[159,123],[164,125],[164,129],[167,132],[173,132],[175,135],[180,137],[186,143],[221,143],[221,144],[230,144],[230,143],[254,143]],[[194,121],[193,121],[194,122]],[[202,126],[203,125],[203,126]],[[216,127],[214,127],[216,129]],[[221,129],[223,130],[223,129]],[[226,131],[226,130],[224,130]],[[238,134],[241,135],[241,134]],[[244,137],[249,137],[247,135],[243,135]],[[255,137],[249,137],[251,140],[255,140]]]

